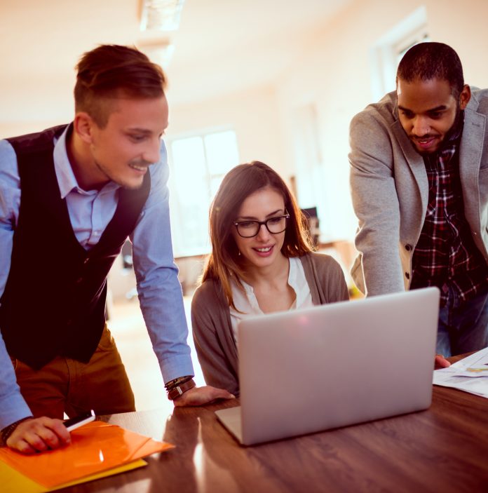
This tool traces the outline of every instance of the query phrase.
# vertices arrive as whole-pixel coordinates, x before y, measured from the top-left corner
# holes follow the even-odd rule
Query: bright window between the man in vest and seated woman
[[[236,133],[222,130],[168,142],[175,257],[210,252],[208,210],[224,175],[239,163]]]

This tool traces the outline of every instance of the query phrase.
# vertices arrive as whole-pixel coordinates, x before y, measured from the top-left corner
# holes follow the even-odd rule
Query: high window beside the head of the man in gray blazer
[[[430,41],[427,11],[424,6],[386,32],[372,48],[372,93],[379,100],[395,90],[398,63],[407,50],[417,43]]]

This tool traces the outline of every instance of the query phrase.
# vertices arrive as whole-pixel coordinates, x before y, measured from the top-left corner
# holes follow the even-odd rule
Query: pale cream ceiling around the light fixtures
[[[352,0],[186,0],[168,74],[171,104],[276,81]],[[140,0],[1,0],[0,122],[72,116],[74,65],[100,43],[137,44]]]

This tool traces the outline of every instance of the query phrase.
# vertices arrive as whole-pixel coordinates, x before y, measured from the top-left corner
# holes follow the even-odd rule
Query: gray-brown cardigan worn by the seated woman
[[[341,266],[329,255],[309,253],[300,258],[315,305],[349,299]],[[238,353],[231,315],[219,281],[207,279],[191,302],[191,326],[198,361],[208,385],[239,393]]]

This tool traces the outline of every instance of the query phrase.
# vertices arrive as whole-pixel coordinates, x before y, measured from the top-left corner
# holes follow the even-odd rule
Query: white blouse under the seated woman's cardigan
[[[289,310],[297,308],[307,308],[313,306],[312,295],[310,293],[309,283],[306,282],[304,266],[298,257],[290,257],[290,271],[288,273],[288,285],[295,292],[295,301]],[[238,311],[229,307],[231,312],[231,324],[233,338],[237,344],[237,326],[240,320],[249,316],[264,315],[262,309],[257,303],[254,289],[248,283],[241,280],[245,292],[238,288],[236,283],[231,283],[233,302]]]

